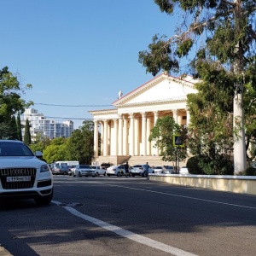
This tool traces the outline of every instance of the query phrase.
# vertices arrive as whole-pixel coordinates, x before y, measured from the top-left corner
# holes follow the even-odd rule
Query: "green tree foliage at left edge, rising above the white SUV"
[[[32,88],[26,84],[25,89]],[[9,72],[8,67],[0,70],[0,138],[12,137],[11,117],[15,113],[23,113],[24,109],[32,104],[21,98],[24,88],[20,87],[18,78]],[[8,133],[10,132],[10,134]]]

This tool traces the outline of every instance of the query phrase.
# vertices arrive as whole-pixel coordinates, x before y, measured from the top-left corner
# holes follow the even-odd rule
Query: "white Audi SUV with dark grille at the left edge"
[[[26,146],[14,140],[0,140],[0,199],[34,199],[46,205],[53,196],[53,176],[49,166]]]

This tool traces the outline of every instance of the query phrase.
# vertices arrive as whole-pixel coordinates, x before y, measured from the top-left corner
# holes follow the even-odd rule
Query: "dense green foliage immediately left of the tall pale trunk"
[[[195,84],[197,94],[188,95],[191,115],[188,146],[190,153],[208,160],[230,154],[232,130],[232,76],[216,63],[205,61],[198,68],[203,82]]]

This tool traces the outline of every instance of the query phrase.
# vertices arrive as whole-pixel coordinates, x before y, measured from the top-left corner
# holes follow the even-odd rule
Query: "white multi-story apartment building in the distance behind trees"
[[[73,133],[73,121],[67,120],[65,122],[57,122],[54,119],[47,119],[43,113],[38,113],[37,109],[26,108],[21,119],[21,124],[25,125],[26,119],[28,119],[30,127],[30,134],[32,141],[40,133],[44,137],[71,137]],[[22,129],[22,137],[24,136],[25,129]]]

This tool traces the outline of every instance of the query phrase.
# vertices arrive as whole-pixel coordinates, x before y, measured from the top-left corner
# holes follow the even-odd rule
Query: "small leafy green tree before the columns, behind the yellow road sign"
[[[171,116],[166,116],[157,119],[154,128],[148,138],[149,142],[154,143],[154,147],[159,148],[160,156],[164,161],[176,162],[177,148],[173,145],[173,135],[180,135],[183,137],[183,142],[186,141],[186,130],[183,126],[177,125]],[[179,148],[179,160],[185,160],[187,157],[186,147]]]

